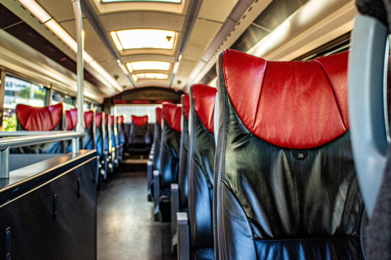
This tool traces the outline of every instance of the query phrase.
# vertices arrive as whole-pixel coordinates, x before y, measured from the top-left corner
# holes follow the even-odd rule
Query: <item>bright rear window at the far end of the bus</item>
[[[115,109],[117,110],[117,116],[124,114],[125,123],[131,123],[132,115],[148,115],[148,123],[155,123],[157,106],[158,105],[116,105]]]

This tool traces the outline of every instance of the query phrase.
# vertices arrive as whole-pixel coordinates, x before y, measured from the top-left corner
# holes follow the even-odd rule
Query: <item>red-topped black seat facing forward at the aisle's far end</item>
[[[129,133],[129,152],[147,153],[151,149],[151,133],[148,116],[132,115],[131,130]]]

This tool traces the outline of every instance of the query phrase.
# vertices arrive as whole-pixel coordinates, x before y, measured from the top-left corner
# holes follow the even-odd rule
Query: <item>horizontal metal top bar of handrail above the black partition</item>
[[[25,131],[28,132],[28,131]],[[38,132],[38,131],[34,131]],[[8,137],[0,139],[0,151],[6,148],[17,148],[22,146],[36,145],[36,144],[45,144],[49,142],[58,142],[74,138],[84,137],[84,133],[81,132],[66,132],[60,131],[61,133],[43,135],[41,132],[40,135],[30,135],[30,136],[18,136],[18,137]]]

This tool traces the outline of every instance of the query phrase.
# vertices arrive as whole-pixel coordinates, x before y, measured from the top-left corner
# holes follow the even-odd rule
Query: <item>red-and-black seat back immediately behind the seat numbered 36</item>
[[[215,88],[202,84],[191,86],[188,164],[190,243],[193,250],[213,248],[215,98]]]

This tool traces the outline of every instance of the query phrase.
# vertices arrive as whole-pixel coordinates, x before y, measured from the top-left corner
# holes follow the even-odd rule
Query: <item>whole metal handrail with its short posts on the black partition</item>
[[[5,137],[0,139],[0,178],[9,178],[10,169],[8,160],[10,156],[10,148],[22,146],[45,144],[49,142],[59,142],[72,139],[73,153],[78,153],[75,144],[79,142],[80,137],[84,137],[84,132],[71,131],[16,131],[16,132],[1,132],[1,135],[13,137]],[[24,135],[24,136],[23,136]]]

